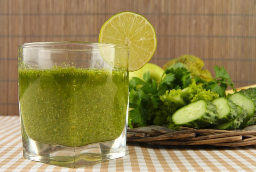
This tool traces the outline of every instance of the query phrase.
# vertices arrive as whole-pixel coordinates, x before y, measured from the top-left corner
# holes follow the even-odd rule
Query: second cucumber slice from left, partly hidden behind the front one
[[[220,125],[231,121],[235,119],[238,115],[236,104],[227,98],[216,98],[211,101],[211,103],[213,103],[213,105],[216,105],[218,114],[218,120],[214,123],[214,125]]]

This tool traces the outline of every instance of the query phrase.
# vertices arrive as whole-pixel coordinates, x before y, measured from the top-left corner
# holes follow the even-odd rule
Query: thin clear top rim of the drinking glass
[[[77,44],[77,45],[100,45],[100,47],[113,47],[113,48],[124,48],[128,49],[128,46],[121,44],[112,44],[106,42],[80,42],[80,41],[50,41],[50,42],[29,42],[18,45],[18,48],[29,48],[29,47],[41,47],[41,46],[53,46],[53,45],[64,45],[64,44]]]

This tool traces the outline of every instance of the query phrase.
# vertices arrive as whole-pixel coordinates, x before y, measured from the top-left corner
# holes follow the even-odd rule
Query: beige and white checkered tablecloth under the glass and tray
[[[128,143],[126,156],[81,168],[63,168],[23,158],[18,116],[0,116],[0,171],[161,172],[256,171],[256,146],[153,146]]]

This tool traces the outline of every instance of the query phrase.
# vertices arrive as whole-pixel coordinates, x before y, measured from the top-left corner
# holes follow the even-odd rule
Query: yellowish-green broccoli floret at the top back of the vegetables
[[[213,79],[210,71],[203,69],[204,61],[196,56],[185,54],[178,58],[173,58],[163,66],[163,69],[166,69],[176,63],[183,63],[186,69],[191,71],[192,78],[200,78],[204,81],[210,81]]]

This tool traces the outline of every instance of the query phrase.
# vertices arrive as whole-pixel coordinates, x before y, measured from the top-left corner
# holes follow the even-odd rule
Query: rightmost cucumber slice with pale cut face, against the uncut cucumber
[[[247,122],[250,120],[252,116],[254,116],[255,113],[255,104],[254,101],[252,101],[251,98],[248,98],[245,96],[245,94],[241,92],[235,92],[234,94],[229,94],[228,98],[233,101],[236,105],[239,105],[242,109],[245,109],[247,111],[247,117],[243,121],[243,123],[240,125],[241,128],[244,128],[247,126]]]

